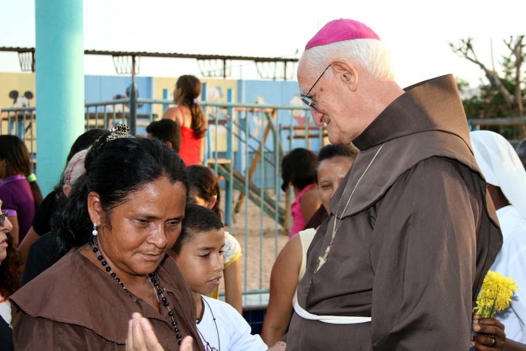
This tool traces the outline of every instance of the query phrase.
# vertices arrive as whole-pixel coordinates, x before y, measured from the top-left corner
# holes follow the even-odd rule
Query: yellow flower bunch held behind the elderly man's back
[[[488,270],[477,297],[477,307],[473,308],[473,312],[482,318],[492,318],[495,312],[510,306],[513,292],[518,290],[519,287],[513,279]]]

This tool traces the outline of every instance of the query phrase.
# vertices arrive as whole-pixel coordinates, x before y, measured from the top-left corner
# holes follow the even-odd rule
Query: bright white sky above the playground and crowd
[[[525,11],[524,0],[85,0],[84,48],[299,57],[319,28],[333,19],[351,18],[368,25],[391,47],[400,86],[448,73],[477,86],[485,79],[481,69],[454,54],[449,42],[473,37],[478,58],[491,67],[492,41],[499,69],[500,56],[509,54],[503,39],[526,34]],[[34,16],[34,0],[0,0],[0,46],[34,47]],[[252,63],[232,66],[231,78],[257,78]],[[109,56],[86,55],[84,71],[116,75]],[[16,53],[0,52],[0,72],[21,72]],[[199,72],[195,59],[145,57],[139,75],[177,77]]]

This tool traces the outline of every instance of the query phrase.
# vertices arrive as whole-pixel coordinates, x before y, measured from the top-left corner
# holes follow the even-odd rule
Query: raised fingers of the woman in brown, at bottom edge
[[[192,351],[192,337],[187,336],[179,348],[180,351]],[[164,351],[159,344],[154,329],[148,318],[134,313],[128,321],[128,339],[126,340],[126,351]]]

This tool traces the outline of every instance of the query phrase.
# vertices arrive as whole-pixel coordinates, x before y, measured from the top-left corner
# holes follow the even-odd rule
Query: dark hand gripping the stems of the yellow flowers
[[[480,318],[479,315],[473,316],[473,330],[485,335],[471,335],[471,346],[479,351],[502,350],[506,334],[504,325],[495,318]]]

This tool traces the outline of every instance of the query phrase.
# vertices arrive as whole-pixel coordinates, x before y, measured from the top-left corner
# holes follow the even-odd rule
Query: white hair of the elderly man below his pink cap
[[[310,72],[327,67],[335,58],[343,58],[357,63],[369,75],[382,81],[395,79],[391,49],[377,39],[351,39],[314,46],[307,49],[300,59],[304,57]]]

